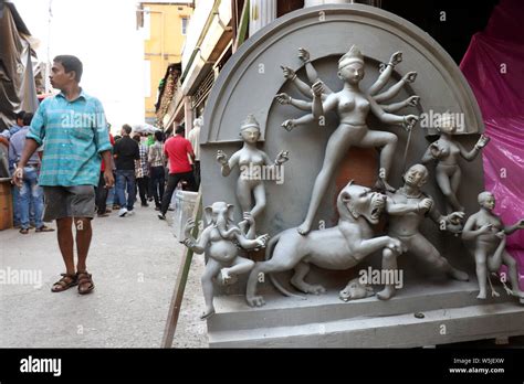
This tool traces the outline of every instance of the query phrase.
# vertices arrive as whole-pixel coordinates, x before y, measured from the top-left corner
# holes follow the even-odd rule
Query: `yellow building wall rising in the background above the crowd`
[[[187,4],[144,3],[148,10],[149,39],[144,40],[144,60],[149,61],[149,97],[145,98],[146,119],[154,119],[158,84],[166,74],[167,66],[181,61],[186,35],[182,35],[182,18],[189,20],[192,8]],[[148,24],[148,25],[147,25]],[[147,68],[147,66],[146,66]]]

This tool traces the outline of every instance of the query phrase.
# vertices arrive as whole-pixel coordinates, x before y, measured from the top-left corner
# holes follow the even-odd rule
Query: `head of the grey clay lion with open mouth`
[[[347,183],[337,199],[337,209],[340,218],[356,221],[365,217],[369,223],[377,224],[380,214],[386,207],[386,195],[371,191],[370,188]]]

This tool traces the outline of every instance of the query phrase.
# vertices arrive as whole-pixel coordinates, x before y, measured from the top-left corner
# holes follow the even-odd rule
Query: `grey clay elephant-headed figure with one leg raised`
[[[209,225],[202,231],[198,239],[191,235],[195,221],[188,220],[186,224],[186,239],[184,244],[196,254],[206,252],[208,263],[206,271],[201,278],[203,297],[206,300],[206,312],[200,317],[205,320],[214,313],[213,307],[213,278],[222,285],[230,285],[237,280],[237,276],[245,274],[253,268],[254,263],[239,256],[239,244],[244,249],[265,247],[268,235],[262,235],[255,239],[248,239],[240,228],[233,223],[233,205],[223,202],[216,202],[205,209],[205,214]],[[252,222],[252,217],[247,214],[247,222]]]

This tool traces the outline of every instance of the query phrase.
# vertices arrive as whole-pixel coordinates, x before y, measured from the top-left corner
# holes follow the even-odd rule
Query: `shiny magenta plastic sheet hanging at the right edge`
[[[492,139],[483,151],[485,189],[494,193],[495,212],[506,225],[524,218],[523,20],[524,1],[502,0],[460,64]],[[507,250],[524,275],[524,231],[509,236]]]

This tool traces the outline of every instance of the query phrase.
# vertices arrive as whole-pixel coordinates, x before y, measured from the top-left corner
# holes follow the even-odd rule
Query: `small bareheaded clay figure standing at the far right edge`
[[[480,193],[479,204],[481,206],[480,211],[468,218],[462,231],[464,241],[474,239],[476,278],[479,279],[480,289],[476,298],[486,298],[489,273],[495,273],[502,265],[505,265],[512,294],[524,303],[524,292],[518,287],[516,260],[505,250],[506,235],[511,235],[517,230],[524,230],[524,220],[504,226],[502,220],[493,213],[495,196],[491,192]]]

